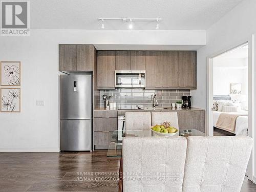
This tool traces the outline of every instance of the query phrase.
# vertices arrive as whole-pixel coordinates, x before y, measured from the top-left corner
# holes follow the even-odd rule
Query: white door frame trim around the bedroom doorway
[[[209,136],[214,135],[214,118],[213,118],[213,109],[214,109],[214,60],[215,58],[217,58],[218,56],[221,56],[224,53],[228,53],[229,51],[235,50],[237,48],[243,48],[247,49],[247,45],[248,45],[248,49],[247,49],[247,55],[248,55],[248,62],[247,62],[247,78],[248,78],[248,132],[247,135],[249,137],[253,138],[253,126],[254,124],[256,124],[256,120],[253,118],[255,116],[255,108],[256,106],[254,106],[254,102],[253,102],[253,98],[254,98],[254,94],[255,94],[255,89],[253,89],[254,84],[255,84],[255,78],[254,78],[254,73],[255,73],[255,67],[254,65],[254,45],[255,45],[255,39],[254,39],[254,35],[251,35],[250,37],[247,38],[248,41],[244,41],[241,44],[237,44],[238,46],[230,46],[230,49],[226,49],[226,50],[222,50],[219,53],[216,53],[214,55],[211,55],[207,58],[207,109],[206,109],[206,134]],[[236,87],[236,85],[234,86]],[[231,89],[231,85],[230,85],[230,89]],[[228,96],[228,95],[227,95]],[[243,96],[244,97],[244,96]],[[243,98],[244,99],[244,98]],[[232,99],[231,99],[232,100]],[[251,157],[248,163],[248,167],[247,167],[247,176],[248,179],[251,181],[255,180],[253,179],[253,151],[251,153]]]

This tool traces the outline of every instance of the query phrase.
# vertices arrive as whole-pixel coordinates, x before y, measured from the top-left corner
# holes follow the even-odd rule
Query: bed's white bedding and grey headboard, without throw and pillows
[[[214,100],[231,100],[231,98],[229,95],[218,95],[218,96],[214,96]],[[224,130],[226,132],[229,132],[229,133],[232,133],[235,135],[247,135],[247,133],[248,133],[248,112],[247,111],[240,110],[239,112],[225,112],[228,114],[239,114],[240,115],[239,117],[237,117],[234,131],[229,131],[229,130],[223,129],[222,127],[216,126],[216,123],[217,123],[221,113],[223,113],[223,112],[213,111],[215,129]]]

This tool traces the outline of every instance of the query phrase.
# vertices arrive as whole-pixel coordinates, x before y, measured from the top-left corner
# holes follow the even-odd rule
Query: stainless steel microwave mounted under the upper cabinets
[[[115,71],[116,88],[145,88],[145,71],[121,70]]]

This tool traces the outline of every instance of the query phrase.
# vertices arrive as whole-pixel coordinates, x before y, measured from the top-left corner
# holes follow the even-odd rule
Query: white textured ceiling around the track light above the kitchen
[[[161,30],[206,30],[242,0],[33,0],[32,29],[100,29],[98,17],[162,18]],[[106,22],[105,30],[127,29]],[[155,22],[133,29],[152,30]]]

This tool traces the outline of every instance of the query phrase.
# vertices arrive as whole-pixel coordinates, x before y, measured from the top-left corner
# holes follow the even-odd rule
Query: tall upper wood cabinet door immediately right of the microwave
[[[162,87],[162,52],[145,53],[146,87]]]

